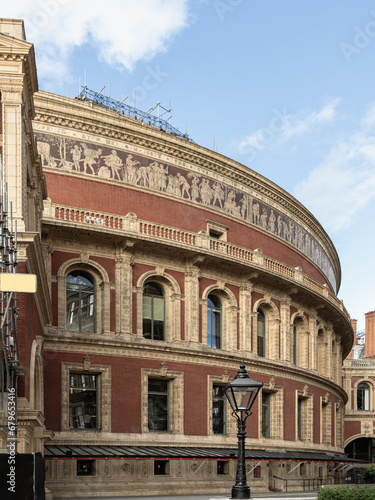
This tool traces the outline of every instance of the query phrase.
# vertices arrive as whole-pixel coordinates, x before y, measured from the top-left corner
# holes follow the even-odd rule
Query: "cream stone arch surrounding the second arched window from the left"
[[[137,281],[137,335],[143,338],[143,288],[150,281],[158,283],[165,293],[165,341],[181,341],[181,288],[164,269],[147,271]]]

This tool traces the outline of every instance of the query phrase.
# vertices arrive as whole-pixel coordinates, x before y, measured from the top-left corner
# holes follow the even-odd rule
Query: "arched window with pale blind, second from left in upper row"
[[[165,296],[158,283],[143,287],[143,336],[146,339],[165,339]]]

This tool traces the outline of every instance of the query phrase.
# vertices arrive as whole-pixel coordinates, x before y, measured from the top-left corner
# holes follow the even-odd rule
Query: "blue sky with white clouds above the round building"
[[[171,123],[293,194],[331,237],[339,297],[375,309],[375,4],[370,0],[16,0],[39,87],[79,84]]]

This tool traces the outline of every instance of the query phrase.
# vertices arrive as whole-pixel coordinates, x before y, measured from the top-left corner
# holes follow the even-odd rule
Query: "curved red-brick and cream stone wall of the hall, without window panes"
[[[235,421],[226,408],[225,432],[215,432],[212,394],[244,360],[264,384],[248,428],[248,450],[320,453],[319,467],[333,478],[334,468],[322,457],[343,453],[347,396],[341,362],[353,332],[335,295],[338,257],[316,219],[271,181],[190,142],[45,92],[35,96],[35,107],[49,196],[42,219],[53,309],[44,338],[52,360],[45,367],[51,395],[45,414],[54,438],[47,445],[86,450],[122,443],[164,453],[181,447],[191,453],[233,449]],[[91,333],[69,329],[66,279],[72,271],[92,277]],[[144,335],[149,282],[162,290],[162,340]],[[209,339],[212,295],[222,308],[220,346]],[[264,348],[259,311],[265,317]],[[77,373],[100,381],[96,429],[72,427],[69,380]],[[168,432],[149,427],[148,383],[154,379],[169,387]],[[269,428],[266,401],[272,408]],[[316,455],[303,473],[308,478],[317,476],[314,460],[319,461]],[[107,494],[126,495],[119,486],[125,469],[113,462],[108,475],[98,461],[98,484]],[[258,491],[280,474],[267,463],[254,477]],[[285,464],[285,477],[299,473],[290,461]],[[249,462],[248,470],[256,466]],[[73,498],[75,465],[69,467],[57,461],[49,484]],[[129,481],[139,474],[149,479],[137,495],[191,491],[198,477],[194,461],[183,469],[170,467],[170,477],[156,491],[150,461],[134,465]],[[228,467],[232,474],[233,464]],[[227,483],[212,483],[218,474],[212,468],[203,472],[199,491],[226,491]]]

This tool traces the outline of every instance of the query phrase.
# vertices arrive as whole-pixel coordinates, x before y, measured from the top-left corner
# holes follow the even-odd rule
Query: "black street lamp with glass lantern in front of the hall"
[[[232,415],[237,419],[238,457],[236,484],[232,488],[232,498],[250,498],[245,466],[246,419],[251,415],[251,407],[262,386],[261,382],[249,377],[242,362],[236,378],[224,389],[233,410]]]

